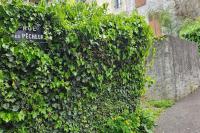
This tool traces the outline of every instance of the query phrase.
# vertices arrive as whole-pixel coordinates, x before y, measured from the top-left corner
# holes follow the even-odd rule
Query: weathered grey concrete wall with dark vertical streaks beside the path
[[[200,56],[194,43],[169,37],[155,47],[148,72],[155,84],[147,91],[149,98],[180,99],[200,86]]]

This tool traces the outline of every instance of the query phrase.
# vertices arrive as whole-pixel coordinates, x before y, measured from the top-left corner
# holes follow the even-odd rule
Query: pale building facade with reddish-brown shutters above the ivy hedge
[[[27,2],[38,3],[39,0],[25,0]],[[51,1],[51,0],[47,0]],[[173,12],[175,7],[174,0],[70,0],[74,2],[97,2],[98,5],[104,3],[108,4],[108,12],[110,13],[127,13],[130,14],[134,10],[137,10],[138,13],[145,17],[146,21],[152,27],[154,33],[157,36],[162,35],[162,29],[159,24],[159,21],[156,18],[151,18],[149,13],[151,11],[167,9]]]

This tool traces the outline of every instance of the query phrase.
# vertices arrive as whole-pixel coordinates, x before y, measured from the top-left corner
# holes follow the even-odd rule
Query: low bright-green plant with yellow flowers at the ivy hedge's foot
[[[123,112],[109,119],[105,133],[152,133],[156,116],[152,109],[137,107],[134,113]]]

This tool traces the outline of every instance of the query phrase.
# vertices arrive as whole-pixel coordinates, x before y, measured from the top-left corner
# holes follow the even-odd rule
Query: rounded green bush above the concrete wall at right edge
[[[200,44],[200,20],[189,21],[184,24],[179,35],[181,38]]]

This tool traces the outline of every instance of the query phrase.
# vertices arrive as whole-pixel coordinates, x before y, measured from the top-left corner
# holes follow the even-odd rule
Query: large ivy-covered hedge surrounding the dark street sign
[[[20,24],[37,23],[47,44],[13,40]],[[151,43],[148,25],[135,13],[111,15],[83,3],[1,4],[1,130],[145,132],[135,111]],[[115,127],[118,118],[126,129]]]

